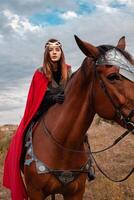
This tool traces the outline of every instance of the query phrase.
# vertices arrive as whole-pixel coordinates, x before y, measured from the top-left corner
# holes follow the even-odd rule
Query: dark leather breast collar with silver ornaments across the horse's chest
[[[47,164],[39,160],[37,156],[35,156],[34,154],[31,129],[28,133],[28,139],[25,146],[27,147],[27,153],[24,165],[29,166],[30,169],[31,163],[34,162],[37,174],[53,175],[62,185],[67,185],[71,182],[74,182],[76,179],[79,178],[79,176],[81,176],[81,174],[83,173],[86,174],[90,170],[90,165],[91,165],[90,158],[85,162],[84,165],[82,165],[78,169],[76,168],[67,170],[66,168],[57,169],[57,168],[50,168],[49,166],[47,166]],[[70,168],[70,164],[68,165],[68,167]]]

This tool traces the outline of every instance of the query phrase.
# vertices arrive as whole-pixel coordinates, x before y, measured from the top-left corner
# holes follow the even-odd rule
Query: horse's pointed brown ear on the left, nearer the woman
[[[100,54],[99,50],[97,49],[97,47],[82,41],[80,38],[78,38],[76,35],[74,35],[76,43],[78,45],[78,47],[81,49],[81,51],[88,57],[94,57],[97,58]]]

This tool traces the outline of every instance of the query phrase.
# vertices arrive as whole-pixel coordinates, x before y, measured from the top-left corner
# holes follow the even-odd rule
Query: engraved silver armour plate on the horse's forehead
[[[96,65],[115,65],[119,67],[119,73],[134,82],[134,65],[132,65],[120,51],[115,48],[108,50],[100,56]]]

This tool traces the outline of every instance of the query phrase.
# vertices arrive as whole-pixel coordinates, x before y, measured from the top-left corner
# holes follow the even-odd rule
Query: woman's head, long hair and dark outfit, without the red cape
[[[62,51],[61,43],[55,39],[50,39],[45,45],[43,71],[47,76],[49,83],[45,97],[37,114],[40,115],[54,103],[63,103],[64,87],[71,76],[71,68],[65,64],[65,57]]]

